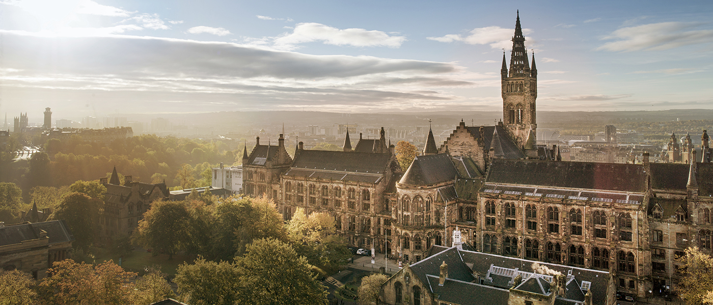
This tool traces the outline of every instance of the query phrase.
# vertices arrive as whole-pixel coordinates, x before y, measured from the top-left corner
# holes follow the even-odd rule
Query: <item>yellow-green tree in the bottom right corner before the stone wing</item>
[[[676,258],[684,276],[678,282],[678,292],[686,304],[703,304],[709,291],[713,291],[713,257],[698,247],[689,247],[685,254]]]

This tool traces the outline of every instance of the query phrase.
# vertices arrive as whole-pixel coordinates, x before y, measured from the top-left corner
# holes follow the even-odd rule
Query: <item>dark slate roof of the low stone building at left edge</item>
[[[52,220],[43,223],[18,223],[6,225],[0,229],[0,246],[19,244],[25,240],[36,240],[40,230],[47,232],[49,244],[71,242],[74,235],[64,220]]]

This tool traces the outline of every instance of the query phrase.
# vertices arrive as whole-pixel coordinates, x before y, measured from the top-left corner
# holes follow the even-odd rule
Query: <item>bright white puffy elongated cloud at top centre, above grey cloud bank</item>
[[[368,31],[364,28],[346,28],[340,30],[319,23],[297,23],[292,33],[275,39],[278,48],[294,48],[299,43],[322,41],[335,46],[372,47],[386,46],[399,48],[406,37],[389,36],[382,31]]]

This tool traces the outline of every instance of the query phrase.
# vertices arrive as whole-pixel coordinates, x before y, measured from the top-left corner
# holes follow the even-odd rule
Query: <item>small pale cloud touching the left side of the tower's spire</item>
[[[531,33],[529,28],[523,28],[523,34]],[[431,41],[439,41],[441,43],[452,43],[453,41],[462,41],[471,45],[490,45],[491,48],[509,49],[513,46],[511,38],[514,30],[511,28],[501,28],[499,26],[487,26],[485,28],[473,28],[467,35],[448,34],[442,37],[426,37]]]

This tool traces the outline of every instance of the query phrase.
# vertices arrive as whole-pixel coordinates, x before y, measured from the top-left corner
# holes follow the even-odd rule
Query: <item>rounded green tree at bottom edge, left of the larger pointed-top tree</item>
[[[193,305],[240,304],[239,299],[247,299],[247,290],[241,282],[241,269],[230,262],[210,262],[203,257],[193,264],[178,266],[174,282],[178,284],[181,299]]]

